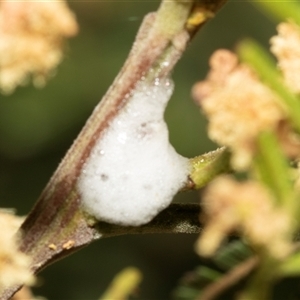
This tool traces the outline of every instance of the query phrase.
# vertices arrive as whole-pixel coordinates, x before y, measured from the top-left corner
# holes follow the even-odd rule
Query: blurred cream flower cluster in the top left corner
[[[10,93],[30,77],[43,85],[62,60],[64,39],[77,31],[63,1],[1,1],[0,89]]]

